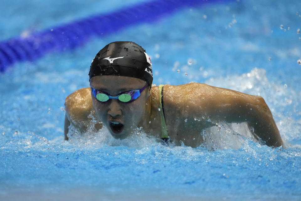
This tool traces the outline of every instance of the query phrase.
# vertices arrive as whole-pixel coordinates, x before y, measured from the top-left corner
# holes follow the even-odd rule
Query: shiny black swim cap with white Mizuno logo
[[[89,76],[120,75],[153,82],[150,57],[138,44],[129,41],[109,43],[94,57]]]

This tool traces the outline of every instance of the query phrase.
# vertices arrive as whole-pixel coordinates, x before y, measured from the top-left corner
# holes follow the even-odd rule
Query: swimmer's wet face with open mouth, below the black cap
[[[146,82],[132,77],[100,75],[92,77],[90,84],[94,89],[101,90],[111,96],[117,96],[125,91],[142,89]],[[143,120],[146,102],[150,96],[149,89],[147,87],[136,100],[128,103],[118,99],[100,102],[91,93],[96,114],[114,138],[126,138]]]

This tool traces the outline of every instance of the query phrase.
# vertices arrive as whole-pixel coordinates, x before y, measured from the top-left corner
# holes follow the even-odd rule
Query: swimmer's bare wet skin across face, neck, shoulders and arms
[[[105,75],[92,77],[90,84],[95,89],[116,96],[125,91],[141,89],[146,82],[131,77]],[[126,138],[137,127],[143,127],[145,133],[160,139],[159,98],[156,86],[151,89],[147,87],[139,98],[130,103],[118,99],[100,102],[91,94],[90,88],[77,90],[66,98],[65,139],[68,139],[70,122],[81,132],[86,131],[90,122],[87,116],[91,111],[95,111],[95,117],[99,120],[95,124],[96,130],[105,125],[116,139]],[[254,128],[255,136],[267,145],[283,145],[272,113],[261,96],[191,83],[164,85],[163,100],[168,134],[177,145],[183,141],[187,146],[199,146],[203,142],[201,131],[222,121],[248,122]],[[114,128],[114,124],[119,124],[119,127]]]

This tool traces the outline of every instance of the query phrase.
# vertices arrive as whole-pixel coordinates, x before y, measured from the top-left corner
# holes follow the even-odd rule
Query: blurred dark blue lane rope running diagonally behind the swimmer
[[[177,9],[222,0],[155,0],[0,42],[0,72],[48,52],[72,50],[92,36],[105,36],[133,24],[153,22]],[[225,0],[224,0],[225,1]]]

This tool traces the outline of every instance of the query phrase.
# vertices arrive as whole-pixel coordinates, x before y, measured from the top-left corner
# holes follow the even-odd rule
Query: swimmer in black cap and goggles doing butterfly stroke
[[[247,122],[256,139],[271,147],[283,145],[261,96],[200,83],[152,86],[150,57],[134,42],[105,46],[93,59],[89,77],[90,87],[66,97],[66,140],[71,123],[87,132],[92,112],[98,120],[95,130],[105,126],[116,139],[142,127],[164,142],[197,147],[203,142],[202,130],[216,122]]]

